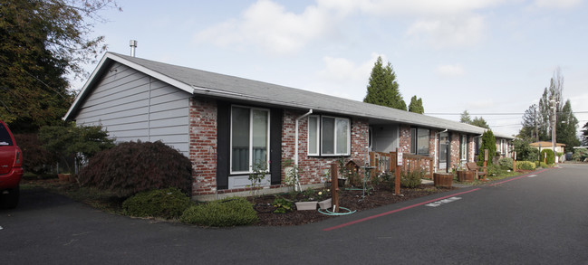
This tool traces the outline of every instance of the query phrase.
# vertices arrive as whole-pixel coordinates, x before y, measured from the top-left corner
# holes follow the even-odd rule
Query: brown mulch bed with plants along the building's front
[[[394,192],[390,188],[390,185],[377,185],[370,194],[366,194],[365,198],[361,199],[361,190],[342,190],[339,198],[339,204],[342,207],[348,208],[352,211],[364,211],[391,203],[400,203],[415,199],[429,194],[439,194],[443,192],[456,189],[455,187],[448,188],[436,188],[433,185],[420,185],[417,188],[408,189],[402,188],[400,193],[404,196],[395,196]],[[283,194],[285,198],[289,198],[289,194]],[[257,204],[273,203],[276,195],[265,195],[255,198]],[[264,210],[262,210],[263,212]],[[289,213],[258,213],[259,222],[255,225],[258,226],[286,226],[286,225],[299,225],[311,222],[320,222],[334,216],[325,215],[318,211],[293,211]]]

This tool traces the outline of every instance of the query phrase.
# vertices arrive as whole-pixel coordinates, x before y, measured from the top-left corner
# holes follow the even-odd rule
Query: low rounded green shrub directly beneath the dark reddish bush
[[[167,188],[135,194],[122,203],[122,208],[131,216],[176,219],[191,203],[177,188]]]

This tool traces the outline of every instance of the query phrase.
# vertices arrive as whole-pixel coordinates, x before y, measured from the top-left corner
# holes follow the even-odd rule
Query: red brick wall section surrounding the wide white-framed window
[[[294,139],[295,139],[295,118],[304,115],[301,111],[284,111],[282,131],[282,161],[291,160],[294,164]],[[351,156],[345,156],[345,161],[352,159],[360,165],[368,157],[368,123],[363,119],[351,119],[352,123],[352,148]],[[339,157],[335,156],[308,156],[308,118],[302,118],[298,124],[298,166],[300,169],[300,184],[310,185],[321,183],[324,170],[331,168],[331,164],[337,162]],[[282,168],[282,179],[284,181],[284,167]]]

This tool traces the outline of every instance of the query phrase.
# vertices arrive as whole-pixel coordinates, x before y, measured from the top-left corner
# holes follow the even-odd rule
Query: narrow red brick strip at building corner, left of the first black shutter
[[[194,183],[192,194],[215,194],[217,191],[217,101],[190,99],[189,158]]]

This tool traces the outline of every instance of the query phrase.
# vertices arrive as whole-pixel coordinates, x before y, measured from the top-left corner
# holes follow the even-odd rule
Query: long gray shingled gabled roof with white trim
[[[430,117],[257,80],[247,80],[210,71],[154,62],[113,52],[107,52],[101,59],[98,67],[92,72],[92,76],[83,86],[64,119],[72,119],[83,99],[92,91],[92,87],[112,62],[120,62],[196,96],[250,101],[287,109],[313,109],[314,112],[368,118],[371,124],[403,123],[426,128],[447,128],[448,130],[470,134],[482,134],[486,130],[485,128],[444,118]],[[513,138],[504,135],[499,137]]]

